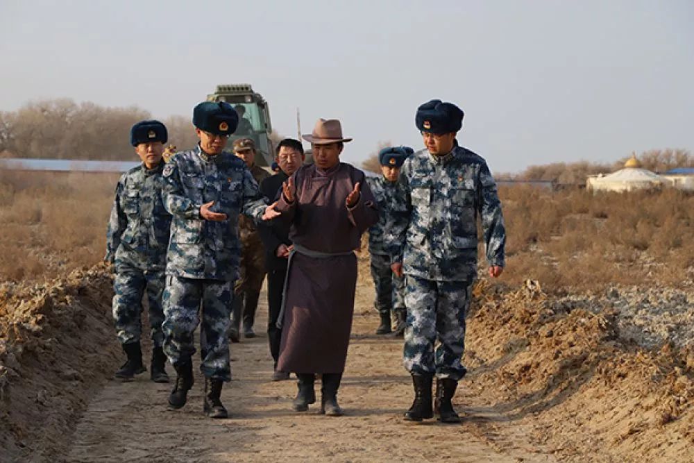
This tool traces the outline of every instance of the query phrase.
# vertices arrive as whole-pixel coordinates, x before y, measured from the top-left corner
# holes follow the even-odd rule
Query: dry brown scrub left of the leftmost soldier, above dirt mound
[[[53,278],[103,258],[116,181],[0,171],[0,281]]]

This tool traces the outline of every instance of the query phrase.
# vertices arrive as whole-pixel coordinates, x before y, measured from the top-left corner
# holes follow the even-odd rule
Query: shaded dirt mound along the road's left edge
[[[117,364],[103,264],[46,285],[0,290],[0,455],[54,460]]]

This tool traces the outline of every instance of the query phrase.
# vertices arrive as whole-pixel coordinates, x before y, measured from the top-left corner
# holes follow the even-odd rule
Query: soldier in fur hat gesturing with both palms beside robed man
[[[226,418],[220,400],[231,379],[228,330],[234,281],[239,277],[239,213],[260,221],[264,197],[244,162],[223,152],[239,121],[228,103],[205,101],[193,111],[200,138],[195,149],[174,154],[164,167],[166,207],[174,219],[164,291],[164,351],[176,369],[169,407],[183,407],[193,385],[194,330],[201,324],[205,376],[203,410]]]

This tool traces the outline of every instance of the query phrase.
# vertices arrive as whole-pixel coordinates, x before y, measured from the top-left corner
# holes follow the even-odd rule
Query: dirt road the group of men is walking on
[[[482,406],[480,392],[464,383],[455,398],[458,410],[467,415],[461,425],[403,421],[412,387],[400,364],[402,341],[373,335],[378,317],[370,301],[370,287],[360,285],[339,392],[346,416],[322,416],[316,405],[304,414],[291,411],[296,380],[269,380],[272,362],[262,333],[262,305],[256,323],[260,336],[232,344],[234,379],[222,396],[230,419],[203,416],[199,374],[188,404],[178,411],[165,407],[170,385],[157,385],[146,375],[129,383],[111,381],[79,421],[67,461],[554,461],[529,444],[530,430]]]

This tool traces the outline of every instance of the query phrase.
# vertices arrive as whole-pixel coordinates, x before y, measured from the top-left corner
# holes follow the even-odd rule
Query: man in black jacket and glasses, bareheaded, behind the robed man
[[[303,146],[294,138],[285,138],[277,145],[275,161],[280,171],[260,183],[260,190],[271,202],[277,201],[282,194],[282,183],[303,165],[305,155]],[[273,381],[289,379],[289,371],[277,371],[277,360],[280,355],[282,330],[277,327],[277,319],[282,308],[282,291],[287,274],[287,258],[291,251],[289,241],[289,224],[277,220],[261,226],[258,230],[265,246],[265,267],[267,270],[267,337],[270,342],[270,354],[275,361]]]

